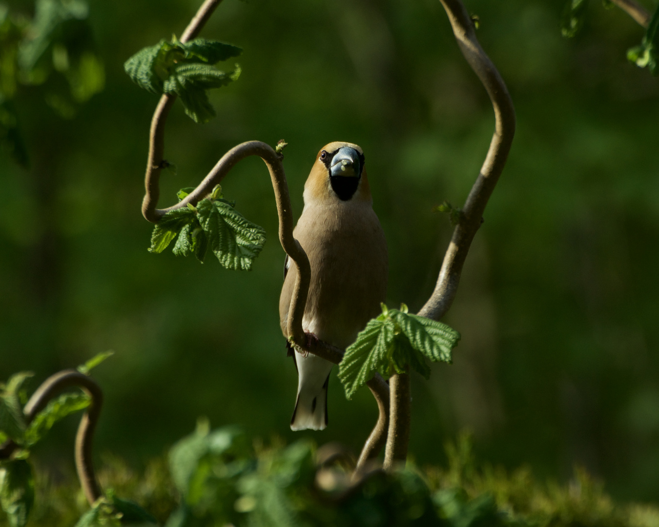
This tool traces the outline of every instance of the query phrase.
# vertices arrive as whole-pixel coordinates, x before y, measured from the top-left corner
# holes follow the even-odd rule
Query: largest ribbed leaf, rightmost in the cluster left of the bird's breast
[[[219,263],[227,269],[250,270],[266,243],[266,231],[248,221],[233,204],[206,198],[197,204],[199,223]]]

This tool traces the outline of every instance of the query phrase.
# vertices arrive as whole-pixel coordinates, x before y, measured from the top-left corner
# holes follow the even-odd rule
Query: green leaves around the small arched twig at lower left
[[[100,354],[81,368],[88,372],[109,356]],[[53,425],[74,412],[84,410],[91,399],[82,391],[63,393],[27,422],[23,405],[27,401],[24,389],[30,372],[12,375],[7,383],[0,383],[0,446],[9,441],[17,446],[11,457],[0,460],[0,506],[9,518],[11,527],[24,527],[34,505],[34,473],[30,449],[42,441]]]

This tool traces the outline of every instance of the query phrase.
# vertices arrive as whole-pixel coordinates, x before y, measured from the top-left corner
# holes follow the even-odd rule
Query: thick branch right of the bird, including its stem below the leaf
[[[418,312],[420,316],[439,320],[449,310],[460,281],[465,258],[476,231],[482,223],[485,206],[503,171],[515,135],[515,109],[503,79],[480,47],[474,23],[461,0],[440,0],[451,22],[455,39],[471,68],[485,87],[494,107],[494,135],[485,161],[467,196],[460,219],[444,256],[440,276],[432,296]],[[409,443],[410,386],[409,375],[393,375],[389,433],[385,451],[385,467],[405,463]]]

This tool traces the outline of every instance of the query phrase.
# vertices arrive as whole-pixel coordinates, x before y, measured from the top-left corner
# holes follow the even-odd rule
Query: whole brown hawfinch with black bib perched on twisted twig
[[[312,338],[345,349],[386,300],[387,242],[364,167],[364,152],[353,143],[324,146],[304,184],[304,208],[293,230],[311,265],[302,329]],[[297,268],[288,256],[279,297],[284,337]],[[298,372],[291,430],[324,430],[333,364],[288,344]]]

